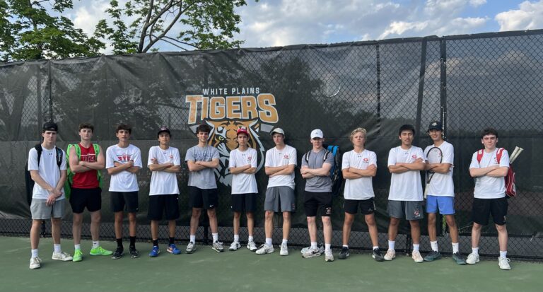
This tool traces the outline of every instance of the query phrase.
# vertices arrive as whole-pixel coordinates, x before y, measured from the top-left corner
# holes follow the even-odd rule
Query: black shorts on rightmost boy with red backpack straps
[[[494,218],[497,225],[505,225],[507,219],[507,198],[499,199],[473,199],[472,219],[475,223],[487,225],[489,215]]]

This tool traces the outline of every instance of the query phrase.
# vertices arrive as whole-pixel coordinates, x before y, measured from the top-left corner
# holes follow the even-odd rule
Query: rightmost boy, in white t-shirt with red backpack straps
[[[473,228],[472,228],[472,253],[467,256],[468,264],[479,262],[479,238],[481,228],[489,223],[489,215],[494,219],[494,225],[498,230],[498,243],[500,257],[498,266],[500,269],[511,269],[507,258],[507,228],[506,217],[508,202],[506,198],[506,182],[503,177],[509,170],[509,154],[503,148],[496,148],[498,132],[487,128],[481,132],[481,144],[484,149],[473,153],[472,163],[469,165],[469,175],[475,178],[475,190],[473,192]]]

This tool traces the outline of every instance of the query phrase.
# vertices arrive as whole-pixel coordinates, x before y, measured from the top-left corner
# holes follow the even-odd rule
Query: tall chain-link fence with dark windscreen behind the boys
[[[541,156],[535,146],[542,141],[541,88],[543,31],[493,33],[454,37],[424,37],[338,45],[299,45],[270,49],[237,49],[183,53],[137,54],[90,59],[23,62],[0,65],[1,156],[0,233],[27,235],[30,210],[25,201],[23,164],[28,149],[40,139],[40,125],[48,119],[59,124],[57,146],[78,141],[77,124],[95,125],[95,139],[104,148],[116,144],[115,125],[133,127],[132,143],[141,148],[156,145],[156,129],[166,124],[173,134],[172,146],[183,154],[197,144],[194,127],[206,122],[213,127],[210,144],[221,152],[216,170],[220,199],[218,223],[221,239],[233,238],[230,211],[228,152],[237,146],[233,129],[250,129],[251,146],[257,149],[259,199],[255,214],[255,239],[264,240],[264,192],[267,176],[262,170],[264,153],[274,146],[269,132],[286,131],[286,143],[298,151],[298,165],[309,150],[309,134],[320,128],[325,143],[349,151],[349,133],[368,129],[366,148],[378,156],[373,179],[380,245],[387,241],[386,211],[390,173],[387,155],[398,146],[402,124],[416,128],[415,145],[431,144],[426,127],[433,120],[445,125],[448,141],[455,146],[455,207],[460,226],[461,252],[471,246],[471,207],[474,183],[469,177],[472,153],[481,148],[479,132],[494,127],[498,146],[525,151],[515,162],[518,197],[510,199],[508,233],[510,257],[542,259],[543,207]],[[151,173],[140,170],[138,237],[150,238],[146,211]],[[181,217],[177,238],[187,240],[190,213],[187,206],[186,165],[177,176]],[[114,238],[110,211],[109,177],[103,190],[101,236]],[[298,211],[293,214],[291,245],[307,245],[303,214],[305,183],[296,170]],[[334,199],[333,245],[341,246],[343,199]],[[70,213],[70,212],[69,212]],[[71,216],[62,234],[71,236]],[[274,243],[281,240],[282,217],[274,220]],[[90,221],[88,215],[85,221]],[[442,221],[439,221],[442,222]],[[197,238],[205,240],[206,218],[200,221]],[[242,225],[245,219],[242,218]],[[451,252],[448,230],[439,223],[440,250]],[[426,223],[421,224],[423,233]],[[48,233],[49,227],[45,228]],[[409,226],[400,228],[397,247],[409,250]],[[127,234],[125,232],[124,234]],[[247,230],[242,228],[241,238]],[[496,255],[496,228],[489,225],[481,238],[481,254]],[[88,226],[83,236],[90,236]],[[168,238],[160,226],[160,238]],[[322,238],[322,234],[320,235]],[[243,240],[242,240],[243,241]],[[358,215],[349,245],[369,249],[363,216]],[[430,250],[424,236],[421,250]]]

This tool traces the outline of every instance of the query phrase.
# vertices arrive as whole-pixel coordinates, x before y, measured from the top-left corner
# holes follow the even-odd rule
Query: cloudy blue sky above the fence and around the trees
[[[123,2],[120,0],[119,2]],[[92,35],[109,0],[66,11]],[[543,28],[543,0],[247,0],[237,9],[242,47],[276,47]],[[162,42],[160,51],[177,51]],[[105,54],[111,53],[108,46]]]

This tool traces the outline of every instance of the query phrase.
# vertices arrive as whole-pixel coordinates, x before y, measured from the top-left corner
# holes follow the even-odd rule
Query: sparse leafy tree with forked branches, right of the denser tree
[[[258,1],[258,0],[256,0]],[[112,42],[114,54],[154,52],[158,42],[188,49],[228,49],[243,41],[233,40],[239,33],[240,16],[236,7],[245,0],[129,0],[124,7],[110,1],[106,12],[112,27],[101,20],[96,35]],[[125,19],[134,19],[125,23]]]

